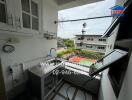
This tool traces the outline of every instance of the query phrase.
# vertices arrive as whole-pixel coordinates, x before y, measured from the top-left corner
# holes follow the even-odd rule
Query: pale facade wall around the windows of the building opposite
[[[81,36],[75,37],[76,48],[98,51],[102,53],[106,52],[107,45],[108,45],[107,38],[101,38],[101,36],[85,36],[85,39],[83,40],[84,44],[82,45],[82,47],[80,47],[79,45],[77,45],[78,43],[82,42],[82,40],[78,40],[78,38],[80,37]],[[93,40],[88,40],[88,39],[93,39]],[[99,41],[99,39],[106,39],[106,41]],[[92,46],[92,48],[90,48],[89,46]],[[104,49],[99,49],[98,47],[104,47]]]

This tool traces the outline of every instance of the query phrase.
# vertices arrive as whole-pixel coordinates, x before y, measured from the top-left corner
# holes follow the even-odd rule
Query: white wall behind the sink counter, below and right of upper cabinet
[[[57,8],[56,5],[48,3],[46,0],[42,2],[42,22],[41,25],[43,31],[49,31],[57,33],[57,25],[54,24],[54,20],[57,20]],[[6,85],[6,91],[10,91],[13,89],[12,85],[12,77],[9,74],[8,68],[14,64],[23,63],[32,59],[46,57],[49,53],[50,48],[57,48],[57,40],[47,40],[43,38],[42,34],[36,34],[33,36],[17,36],[17,35],[7,35],[2,34],[0,31],[0,58],[2,62],[2,69],[4,73],[4,81]],[[2,49],[2,45],[5,43],[5,40],[10,37],[17,38],[20,42],[13,43],[12,45],[15,46],[15,51],[13,53],[4,53]],[[38,64],[40,61],[44,59],[38,59],[35,61],[30,61],[25,63],[24,69],[32,67],[33,65]],[[22,69],[20,66],[14,72],[14,78],[17,79],[17,83],[15,83],[15,87],[20,86],[26,80],[23,78]],[[20,89],[19,89],[20,90]]]

